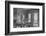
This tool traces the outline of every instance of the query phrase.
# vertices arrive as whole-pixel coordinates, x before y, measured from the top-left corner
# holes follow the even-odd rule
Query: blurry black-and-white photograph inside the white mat
[[[13,8],[13,28],[39,27],[39,9]]]

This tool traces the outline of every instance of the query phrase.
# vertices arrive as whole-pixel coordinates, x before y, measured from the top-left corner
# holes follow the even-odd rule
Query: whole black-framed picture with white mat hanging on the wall
[[[5,35],[44,33],[44,3],[5,1]]]

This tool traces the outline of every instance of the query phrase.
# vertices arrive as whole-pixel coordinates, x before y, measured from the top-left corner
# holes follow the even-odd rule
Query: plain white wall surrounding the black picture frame
[[[17,1],[44,2],[44,3],[46,3],[46,0],[17,0]],[[45,4],[45,9],[46,9],[46,4]],[[45,16],[46,16],[46,12],[45,12]],[[45,19],[45,21],[46,21],[46,19]],[[45,27],[46,27],[46,25],[45,25]],[[0,36],[5,36],[4,34],[5,34],[5,0],[0,0]],[[46,36],[46,33],[24,34],[24,35],[14,35],[14,36]]]

